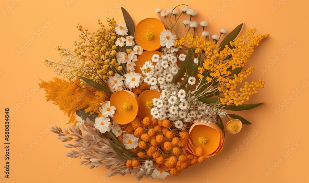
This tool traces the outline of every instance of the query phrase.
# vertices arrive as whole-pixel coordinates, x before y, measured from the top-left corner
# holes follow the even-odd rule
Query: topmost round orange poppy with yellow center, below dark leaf
[[[135,41],[144,50],[157,50],[161,47],[160,34],[163,29],[164,25],[160,20],[155,18],[144,19],[135,28]]]

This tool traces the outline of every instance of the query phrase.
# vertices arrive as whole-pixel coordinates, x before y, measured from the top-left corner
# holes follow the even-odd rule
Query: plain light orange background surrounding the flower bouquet
[[[218,34],[222,27],[230,32],[239,23],[244,23],[241,33],[250,27],[256,27],[258,34],[270,33],[247,64],[256,70],[250,80],[262,78],[266,81],[265,88],[259,90],[250,103],[265,104],[237,113],[252,125],[243,126],[242,131],[234,136],[226,134],[225,147],[218,155],[184,170],[178,177],[169,176],[151,182],[308,182],[309,87],[308,83],[303,83],[309,77],[308,1],[304,0],[2,0],[0,119],[4,118],[4,109],[9,107],[11,145],[10,179],[7,179],[3,168],[3,121],[0,123],[0,134],[3,134],[0,135],[0,181],[135,181],[131,175],[104,177],[108,173],[104,166],[89,169],[79,165],[80,160],[68,158],[65,154],[69,149],[49,131],[49,124],[66,127],[68,118],[57,106],[45,101],[44,91],[38,90],[36,83],[39,79],[46,81],[55,76],[52,68],[44,66],[43,60],[48,57],[56,61],[59,58],[54,49],[58,44],[73,47],[73,40],[79,38],[77,23],[96,30],[97,19],[104,21],[105,13],[113,14],[118,22],[123,21],[118,8],[121,5],[136,25],[142,19],[157,18],[155,9],[158,6],[167,10],[178,4],[188,4],[196,9],[198,15],[194,19],[208,21],[206,30],[210,34]],[[45,24],[45,21],[50,23]],[[46,28],[42,28],[44,24]],[[40,33],[37,29],[44,31]],[[26,40],[31,38],[31,43],[27,43]],[[24,44],[29,46],[18,56],[16,50]],[[277,61],[272,64],[271,59],[275,58]],[[271,66],[266,68],[267,71],[265,64]],[[275,109],[280,104],[284,108],[276,114]],[[254,130],[259,131],[258,134]],[[293,146],[293,143],[299,145]],[[25,155],[21,157],[21,153]],[[229,158],[231,162],[227,161]],[[64,169],[60,171],[59,166]],[[265,172],[269,175],[265,176]],[[148,181],[142,179],[140,182]]]

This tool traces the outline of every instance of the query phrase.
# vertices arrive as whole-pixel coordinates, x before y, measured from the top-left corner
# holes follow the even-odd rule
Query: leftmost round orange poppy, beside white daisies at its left
[[[111,106],[116,107],[112,119],[125,125],[133,121],[138,112],[137,95],[128,90],[118,90],[112,94],[110,99]]]

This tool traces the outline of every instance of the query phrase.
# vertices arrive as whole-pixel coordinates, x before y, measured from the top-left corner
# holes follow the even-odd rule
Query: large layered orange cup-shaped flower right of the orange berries
[[[209,158],[222,150],[224,145],[224,134],[215,123],[194,123],[189,130],[188,151],[196,155],[196,148],[203,148],[203,155]]]

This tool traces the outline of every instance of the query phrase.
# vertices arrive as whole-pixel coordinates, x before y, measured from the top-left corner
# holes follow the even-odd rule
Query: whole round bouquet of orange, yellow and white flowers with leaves
[[[265,82],[244,82],[254,71],[244,64],[268,34],[255,36],[253,28],[237,37],[240,24],[225,37],[225,28],[210,35],[206,21],[193,21],[195,10],[180,6],[158,8],[159,19],[136,27],[123,8],[125,23],[108,18],[106,28],[99,19],[92,33],[78,24],[75,48],[58,45],[61,61],[44,61],[65,76],[40,87],[70,117],[68,128],[52,128],[73,142],[65,145],[72,148],[67,156],[83,157],[89,168],[104,164],[107,176],[164,179],[216,155],[225,132],[251,124],[226,110],[261,104],[245,104]]]

